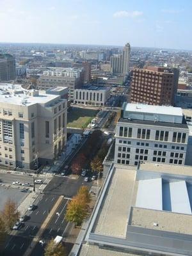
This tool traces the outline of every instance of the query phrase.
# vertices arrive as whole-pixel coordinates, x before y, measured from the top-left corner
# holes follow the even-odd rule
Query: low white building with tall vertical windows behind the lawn
[[[74,90],[74,103],[104,106],[110,97],[110,88],[101,86],[83,86]]]

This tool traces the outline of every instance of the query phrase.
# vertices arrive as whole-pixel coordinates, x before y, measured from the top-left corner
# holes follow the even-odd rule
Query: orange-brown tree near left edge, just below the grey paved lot
[[[10,230],[14,223],[19,219],[19,211],[17,211],[17,205],[11,199],[8,199],[4,205],[2,211],[3,220],[8,230]]]

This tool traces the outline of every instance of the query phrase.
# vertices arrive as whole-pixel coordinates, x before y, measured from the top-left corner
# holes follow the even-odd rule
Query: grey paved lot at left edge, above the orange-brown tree
[[[0,211],[3,210],[4,204],[8,199],[11,199],[15,204],[19,205],[20,202],[28,195],[28,193],[20,192],[17,188],[0,187]]]

